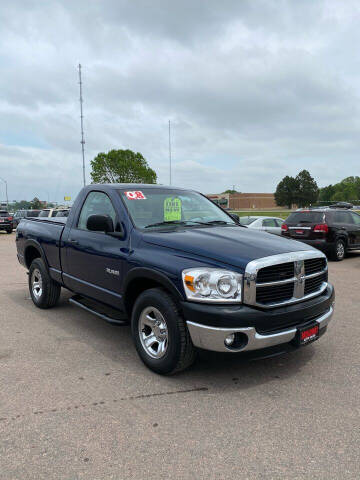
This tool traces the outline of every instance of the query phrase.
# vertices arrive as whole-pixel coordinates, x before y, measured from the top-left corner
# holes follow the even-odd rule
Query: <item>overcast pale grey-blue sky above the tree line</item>
[[[60,201],[98,152],[141,152],[167,184],[273,192],[307,168],[360,174],[360,4],[12,0],[0,6],[0,177]],[[5,197],[0,182],[0,199]]]

